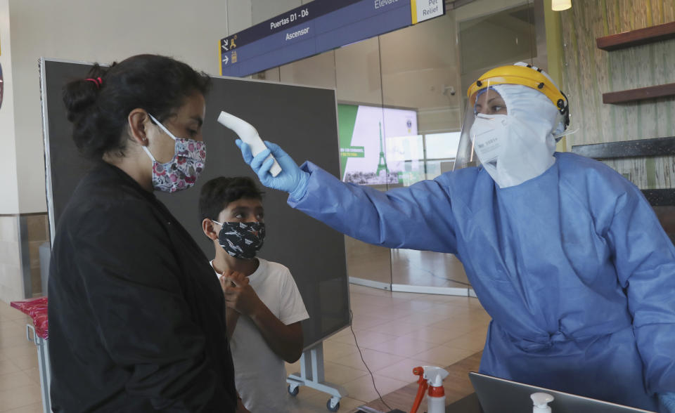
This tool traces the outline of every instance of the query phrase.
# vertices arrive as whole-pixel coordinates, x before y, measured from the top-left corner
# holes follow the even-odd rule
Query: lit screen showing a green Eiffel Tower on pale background
[[[417,112],[367,105],[338,105],[342,181],[403,184],[423,159]]]

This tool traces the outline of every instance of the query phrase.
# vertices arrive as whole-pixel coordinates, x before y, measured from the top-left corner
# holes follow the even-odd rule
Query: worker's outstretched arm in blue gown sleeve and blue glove
[[[449,185],[441,176],[409,188],[380,192],[342,183],[335,176],[305,162],[302,167],[274,143],[252,156],[237,140],[243,158],[268,188],[289,192],[288,204],[350,237],[390,248],[456,252],[455,221]],[[269,173],[274,155],[281,173]]]

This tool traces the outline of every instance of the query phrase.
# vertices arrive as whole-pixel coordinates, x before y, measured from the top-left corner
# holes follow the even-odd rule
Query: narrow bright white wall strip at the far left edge
[[[0,0],[0,65],[4,77],[4,100],[0,107],[0,215],[15,214],[19,209],[14,141],[14,79],[12,76],[9,2]]]

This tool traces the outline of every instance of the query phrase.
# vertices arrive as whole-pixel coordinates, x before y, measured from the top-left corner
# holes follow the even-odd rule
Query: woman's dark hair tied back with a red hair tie
[[[63,103],[80,152],[101,159],[124,156],[129,112],[143,108],[160,122],[175,115],[193,93],[205,95],[210,77],[160,55],[136,55],[110,67],[94,65],[83,79],[63,87]]]

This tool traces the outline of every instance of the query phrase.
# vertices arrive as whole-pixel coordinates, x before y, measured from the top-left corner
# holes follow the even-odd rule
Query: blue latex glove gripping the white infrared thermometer
[[[279,145],[265,140],[267,149],[254,157],[248,143],[237,139],[236,144],[241,150],[244,162],[257,174],[262,185],[265,185],[267,188],[288,192],[293,199],[300,199],[307,192],[309,173],[302,171],[293,158],[284,152]],[[276,162],[281,166],[281,173],[277,176],[272,176],[269,173],[269,169],[274,164],[273,159],[266,159],[269,157],[269,154],[272,154]]]

